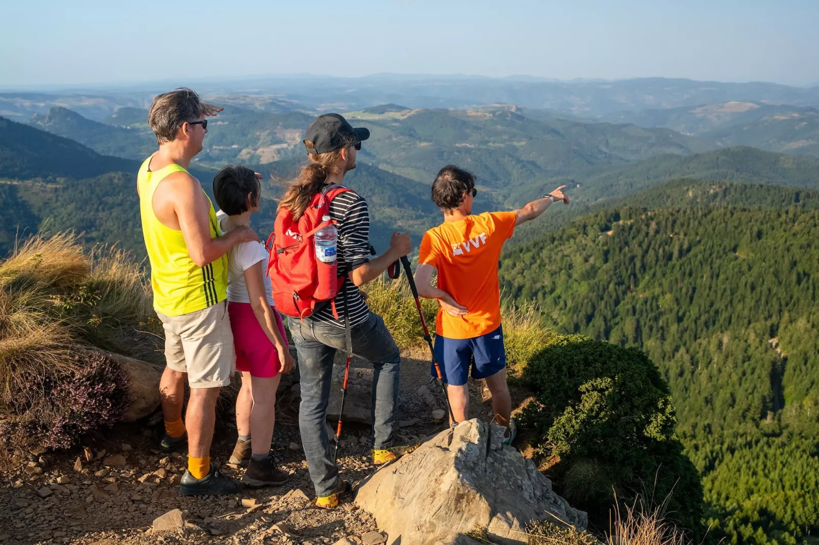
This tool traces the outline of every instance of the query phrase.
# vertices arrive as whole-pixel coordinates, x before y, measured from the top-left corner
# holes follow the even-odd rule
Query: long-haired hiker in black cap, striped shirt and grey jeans
[[[366,128],[353,128],[338,114],[319,115],[305,134],[309,162],[287,188],[279,209],[294,218],[304,214],[310,199],[328,185],[342,186],[344,175],[355,169],[356,151],[369,138]],[[369,209],[355,191],[333,198],[330,217],[336,222],[337,267],[344,277],[334,304],[316,308],[308,317],[289,318],[301,375],[299,428],[317,507],[332,508],[351,493],[350,483],[338,476],[329,444],[325,418],[336,351],[346,349],[346,324],[353,352],[373,363],[373,464],[389,462],[406,448],[393,447],[400,376],[400,352],[380,316],[370,312],[359,286],[377,278],[401,256],[409,254],[409,233],[394,232],[390,247],[370,259]],[[398,452],[396,452],[398,451]]]

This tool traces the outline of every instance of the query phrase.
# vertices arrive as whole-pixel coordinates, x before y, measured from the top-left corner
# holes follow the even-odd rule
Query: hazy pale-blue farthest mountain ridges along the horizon
[[[247,89],[255,89],[249,93]],[[110,92],[3,92],[0,115],[17,121],[66,106],[100,120],[121,106],[145,108],[167,88],[133,86]],[[456,108],[506,103],[600,117],[623,110],[758,101],[819,106],[819,87],[777,83],[724,83],[691,79],[641,78],[572,81],[517,76],[485,78],[455,75],[376,74],[360,78],[259,76],[197,84],[197,91],[221,104],[265,111],[353,111],[380,104],[416,108]]]

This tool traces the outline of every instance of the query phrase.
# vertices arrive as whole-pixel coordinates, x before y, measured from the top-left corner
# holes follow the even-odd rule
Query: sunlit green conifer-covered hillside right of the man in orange
[[[795,543],[819,531],[819,211],[767,190],[602,210],[508,250],[500,275],[560,331],[658,363],[717,538]]]

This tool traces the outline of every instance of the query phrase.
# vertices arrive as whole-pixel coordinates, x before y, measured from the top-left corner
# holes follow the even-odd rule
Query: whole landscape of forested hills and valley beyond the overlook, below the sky
[[[716,538],[767,545],[817,534],[819,89],[263,83],[202,89],[225,110],[191,169],[209,194],[224,164],[263,173],[260,236],[318,111],[342,111],[372,133],[346,181],[369,201],[379,252],[393,230],[417,245],[440,222],[430,184],[445,164],[477,175],[476,213],[567,185],[572,205],[509,241],[503,297],[534,306],[545,327],[639,348],[658,365]],[[0,203],[11,212],[2,254],[38,230],[75,229],[88,247],[144,259],[133,184],[156,148],[152,92],[0,93]]]

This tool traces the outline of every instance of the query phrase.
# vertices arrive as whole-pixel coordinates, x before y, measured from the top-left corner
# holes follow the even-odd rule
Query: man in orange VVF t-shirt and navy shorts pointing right
[[[500,326],[498,259],[504,242],[523,222],[543,214],[553,202],[568,197],[561,186],[512,212],[472,213],[477,195],[475,177],[449,165],[432,183],[432,200],[444,223],[424,233],[415,271],[419,295],[440,304],[435,322],[435,355],[441,364],[455,421],[468,414],[467,378],[486,379],[492,393],[495,421],[507,428],[504,442],[516,433],[512,399],[506,386],[504,331]],[[437,270],[437,286],[432,276]],[[432,376],[437,376],[434,368]]]

